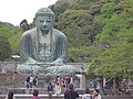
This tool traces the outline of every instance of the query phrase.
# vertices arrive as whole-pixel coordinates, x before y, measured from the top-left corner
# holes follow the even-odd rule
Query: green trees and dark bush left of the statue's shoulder
[[[3,37],[1,40],[0,61],[7,61],[11,58],[11,55],[19,54],[21,34],[21,30],[8,23],[3,23],[3,25],[0,26],[0,36]]]

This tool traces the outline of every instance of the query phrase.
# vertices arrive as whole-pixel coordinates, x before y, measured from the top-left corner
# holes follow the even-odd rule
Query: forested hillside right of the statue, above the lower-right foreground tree
[[[55,28],[69,40],[69,59],[91,62],[117,44],[119,35],[133,26],[132,0],[59,0]]]

